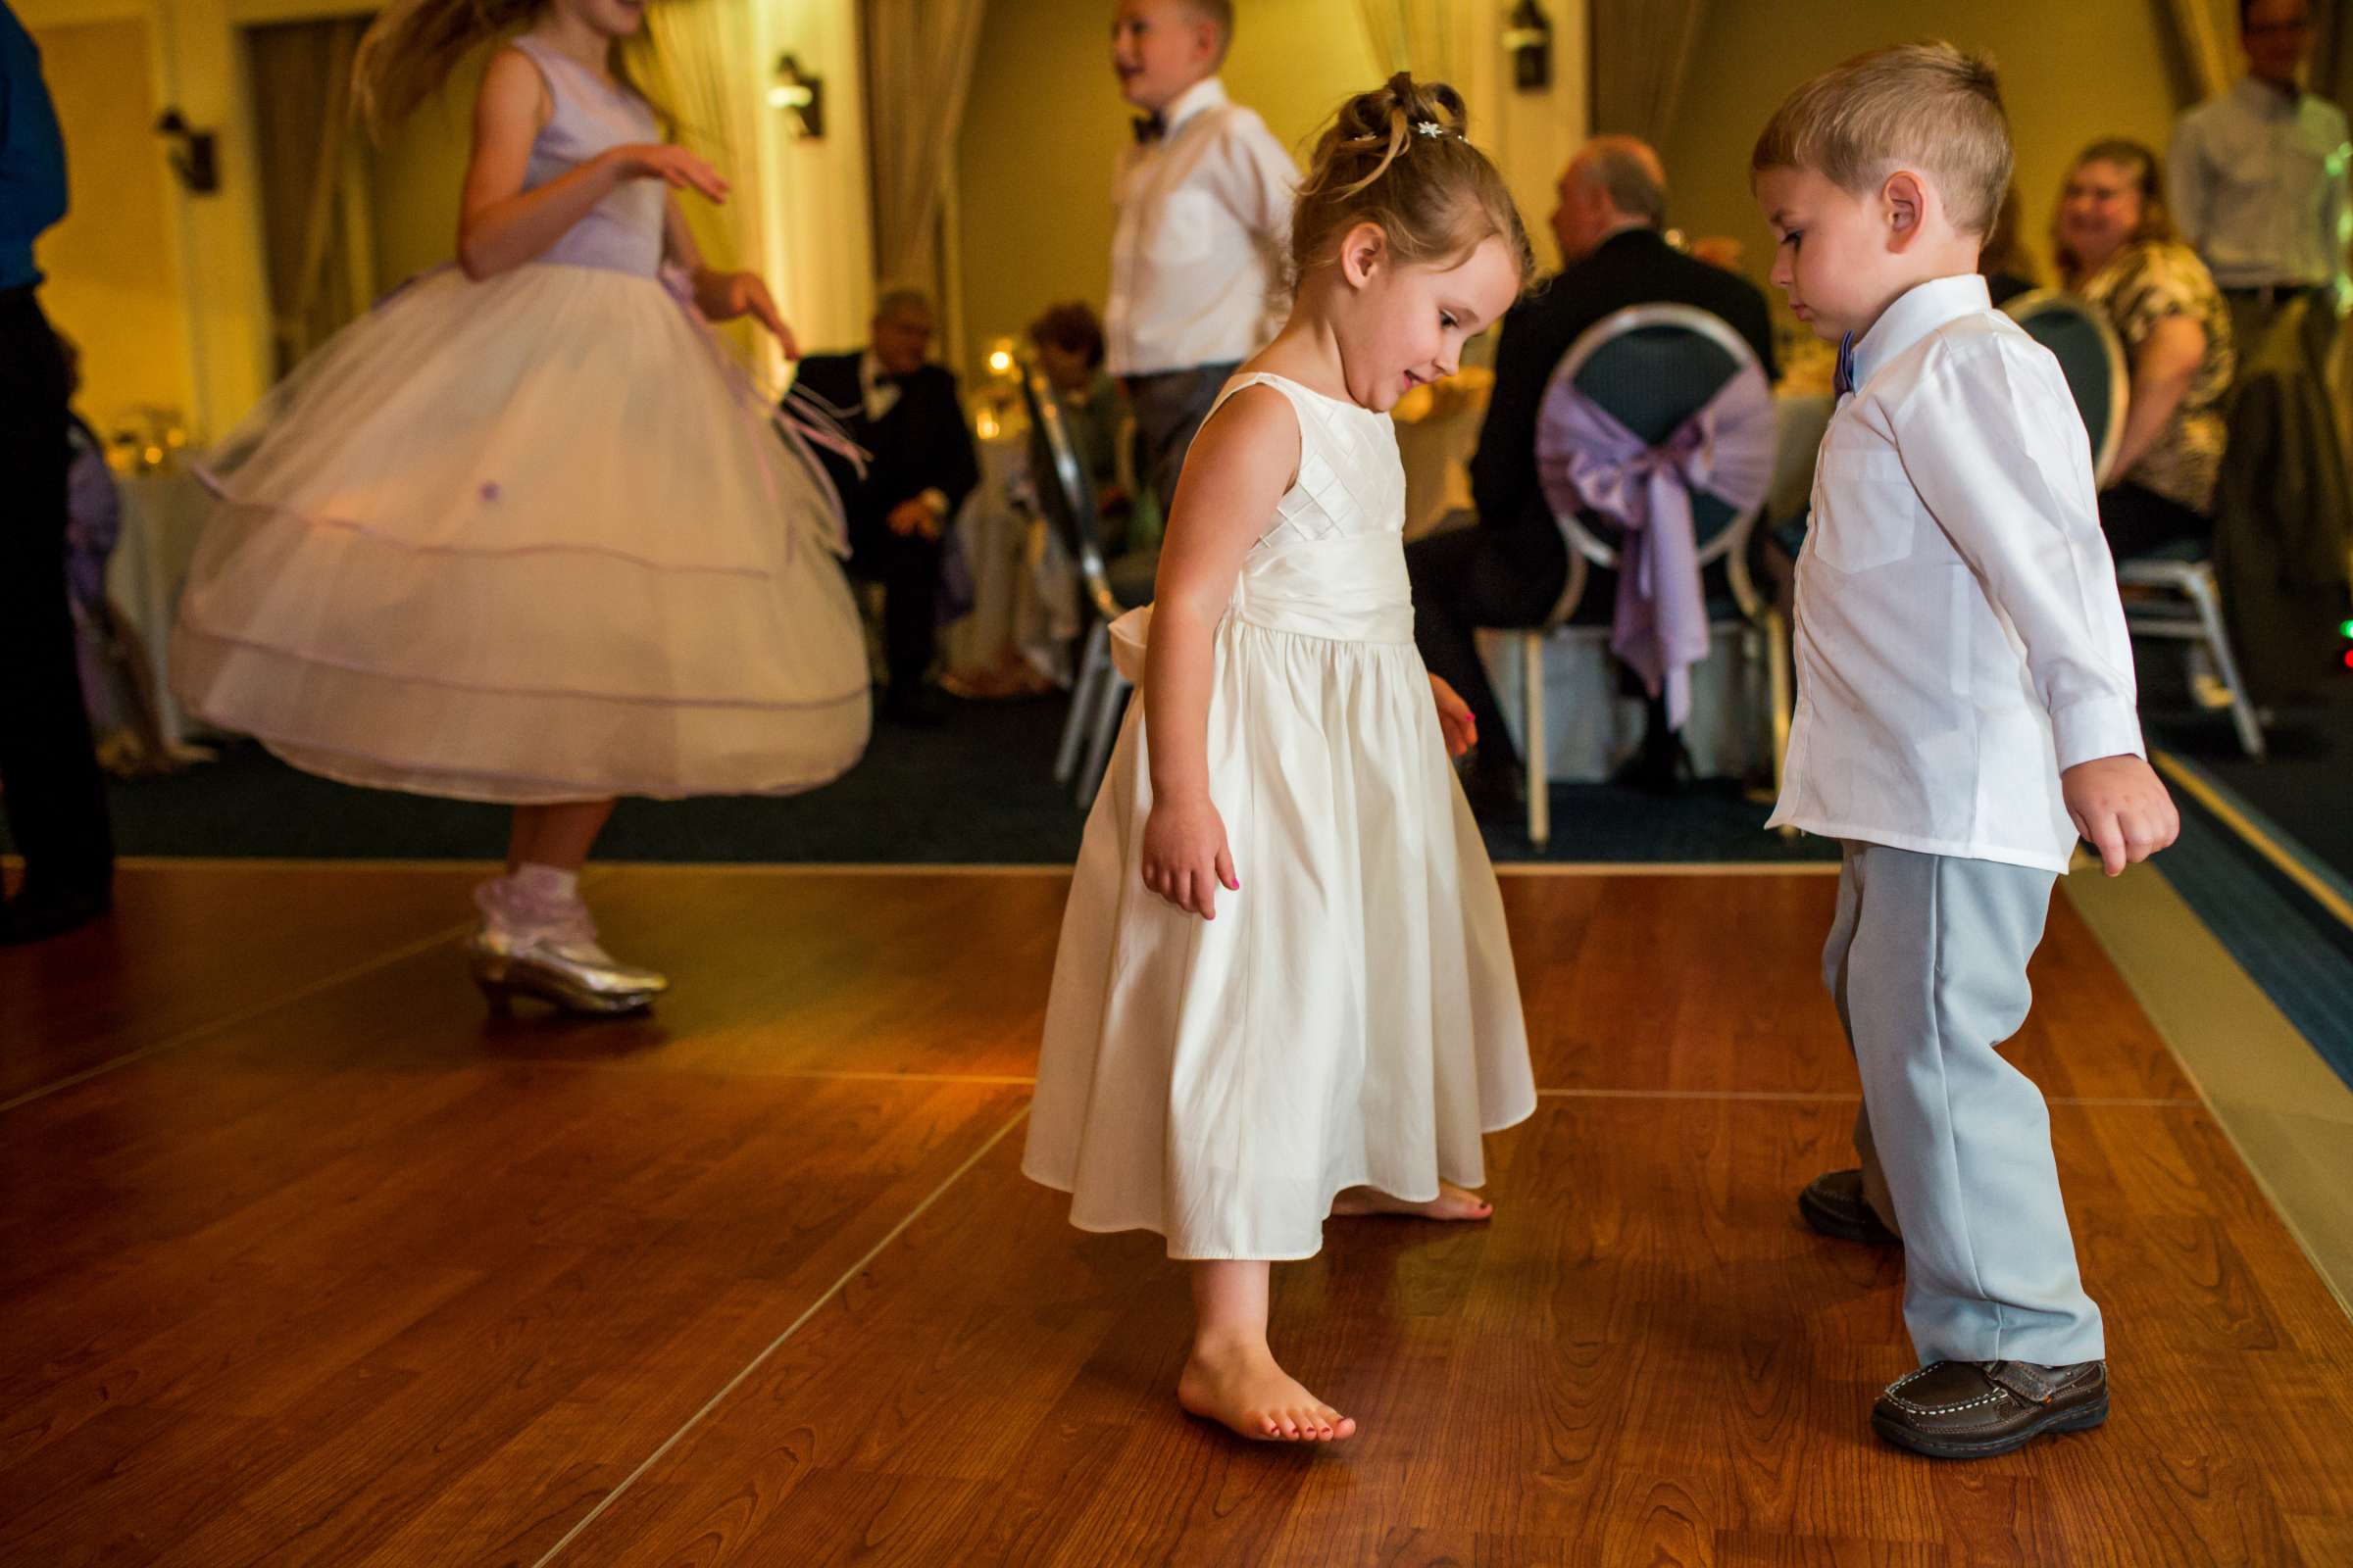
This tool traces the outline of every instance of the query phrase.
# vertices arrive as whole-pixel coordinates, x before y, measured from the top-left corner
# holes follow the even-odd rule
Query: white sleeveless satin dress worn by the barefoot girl
[[[1141,879],[1151,769],[1127,712],[1087,818],[1021,1168],[1080,1229],[1172,1258],[1308,1258],[1344,1187],[1485,1180],[1537,1107],[1494,867],[1414,651],[1405,470],[1386,414],[1268,374],[1299,480],[1217,628],[1209,799],[1240,893],[1217,919]],[[1151,611],[1113,628],[1141,679]]]

